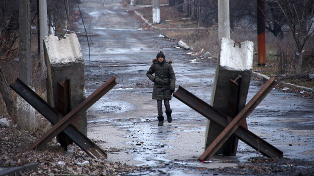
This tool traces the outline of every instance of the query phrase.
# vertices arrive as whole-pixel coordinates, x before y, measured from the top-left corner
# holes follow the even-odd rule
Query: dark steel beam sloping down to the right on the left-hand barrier
[[[25,101],[33,106],[41,115],[49,122],[56,124],[59,121],[58,112],[53,109],[45,100],[38,96],[32,89],[25,85],[21,80],[17,79],[10,87],[19,94]],[[78,131],[73,125],[66,127],[63,132],[92,158],[105,159],[107,154],[99,148],[94,142],[86,137],[82,132]]]

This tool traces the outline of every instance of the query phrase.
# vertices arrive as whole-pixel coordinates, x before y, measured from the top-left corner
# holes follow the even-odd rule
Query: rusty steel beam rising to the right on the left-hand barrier
[[[117,83],[116,78],[112,76],[103,85],[101,85],[96,91],[90,94],[85,100],[83,100],[76,108],[70,111],[59,122],[57,122],[52,128],[50,128],[42,137],[34,142],[27,151],[35,148],[42,148],[48,142],[50,142],[55,136],[68,127],[78,116],[84,113],[90,106],[98,101],[103,95],[105,95],[110,89],[112,89]]]

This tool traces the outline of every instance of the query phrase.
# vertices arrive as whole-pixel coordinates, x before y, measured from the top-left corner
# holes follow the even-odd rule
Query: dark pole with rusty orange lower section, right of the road
[[[265,0],[257,0],[257,65],[266,65]]]

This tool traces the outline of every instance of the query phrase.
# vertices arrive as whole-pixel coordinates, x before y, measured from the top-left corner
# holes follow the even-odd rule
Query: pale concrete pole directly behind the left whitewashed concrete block
[[[39,1],[39,44],[40,44],[40,62],[41,70],[46,71],[45,55],[44,55],[44,41],[43,39],[48,36],[48,22],[47,22],[47,1]]]

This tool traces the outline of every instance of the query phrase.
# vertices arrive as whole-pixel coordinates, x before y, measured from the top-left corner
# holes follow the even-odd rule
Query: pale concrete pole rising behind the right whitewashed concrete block
[[[230,39],[229,0],[218,0],[218,37]]]

